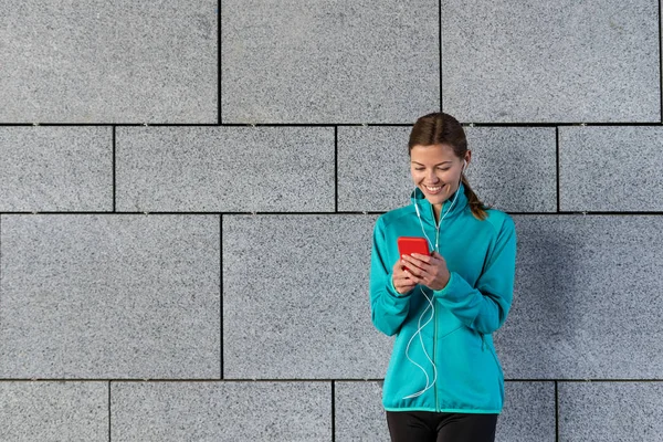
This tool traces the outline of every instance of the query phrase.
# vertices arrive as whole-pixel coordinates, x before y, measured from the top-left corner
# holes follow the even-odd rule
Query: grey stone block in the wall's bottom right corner
[[[663,382],[560,382],[559,440],[663,440]]]

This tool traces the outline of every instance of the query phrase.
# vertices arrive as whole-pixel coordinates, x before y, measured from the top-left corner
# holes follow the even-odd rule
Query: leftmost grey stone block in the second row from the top
[[[0,127],[0,211],[113,210],[112,129]]]

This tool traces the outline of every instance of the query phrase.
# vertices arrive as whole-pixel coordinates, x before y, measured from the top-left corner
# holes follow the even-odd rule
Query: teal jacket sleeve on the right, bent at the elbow
[[[434,291],[435,298],[463,324],[482,334],[492,334],[506,320],[514,294],[516,272],[516,229],[506,215],[488,252],[484,270],[471,286],[456,272],[444,288]]]

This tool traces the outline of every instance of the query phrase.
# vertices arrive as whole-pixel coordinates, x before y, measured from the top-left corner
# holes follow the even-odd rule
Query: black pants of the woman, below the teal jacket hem
[[[391,442],[494,442],[498,414],[387,411]]]

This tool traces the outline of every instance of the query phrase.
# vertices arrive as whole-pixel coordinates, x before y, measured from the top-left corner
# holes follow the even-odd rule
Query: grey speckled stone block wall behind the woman
[[[657,0],[0,4],[0,440],[385,441],[370,234],[463,122],[497,440],[663,440]]]

